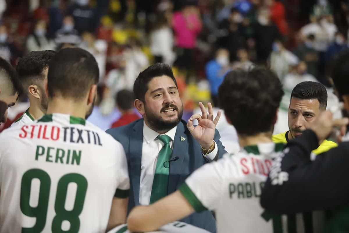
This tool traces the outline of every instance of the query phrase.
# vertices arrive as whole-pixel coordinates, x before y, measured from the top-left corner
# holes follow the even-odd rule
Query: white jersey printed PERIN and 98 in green
[[[104,233],[128,197],[124,148],[85,119],[45,115],[0,142],[0,232]]]

